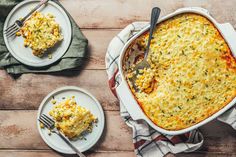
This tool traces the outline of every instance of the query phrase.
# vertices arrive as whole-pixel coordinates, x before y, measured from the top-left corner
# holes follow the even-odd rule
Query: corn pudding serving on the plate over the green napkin
[[[37,11],[24,23],[16,35],[23,36],[24,46],[30,47],[33,54],[38,57],[42,57],[47,49],[63,39],[55,17],[52,14],[44,15]]]

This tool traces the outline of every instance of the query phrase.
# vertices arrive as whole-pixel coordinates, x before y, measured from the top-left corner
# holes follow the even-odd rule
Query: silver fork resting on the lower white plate
[[[39,117],[39,122],[41,122],[48,130],[50,130],[52,133],[56,133],[58,136],[60,136],[75,152],[79,157],[86,157],[84,154],[82,154],[71,142],[68,138],[66,138],[63,134],[61,134],[60,131],[55,127],[55,122],[50,117],[48,117],[45,114],[42,114]]]

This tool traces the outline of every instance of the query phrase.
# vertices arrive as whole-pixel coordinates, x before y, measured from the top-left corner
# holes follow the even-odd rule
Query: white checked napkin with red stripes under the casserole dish
[[[135,22],[124,28],[110,42],[106,53],[106,70],[109,78],[109,86],[115,96],[116,87],[119,85],[118,60],[124,44],[142,28],[147,26],[147,22]],[[134,121],[122,102],[120,102],[120,114],[126,124],[133,129],[133,143],[135,153],[141,157],[164,156],[167,153],[193,152],[203,144],[203,135],[199,130],[189,133],[168,136],[152,129],[144,121]],[[220,121],[231,125],[236,129],[236,109],[235,107],[218,118]]]

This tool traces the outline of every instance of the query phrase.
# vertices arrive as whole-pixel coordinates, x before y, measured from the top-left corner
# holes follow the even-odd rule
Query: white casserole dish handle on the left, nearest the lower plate
[[[123,103],[132,119],[143,119],[144,113],[136,102],[133,94],[131,93],[130,89],[128,88],[128,85],[125,83],[124,80],[122,80],[118,87],[116,87],[116,92],[119,100]]]

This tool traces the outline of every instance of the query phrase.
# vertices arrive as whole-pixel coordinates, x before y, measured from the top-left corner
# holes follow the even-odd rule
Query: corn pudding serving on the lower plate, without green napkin
[[[86,108],[77,105],[74,98],[68,98],[55,104],[49,115],[55,120],[55,126],[70,139],[91,132],[97,118]]]

